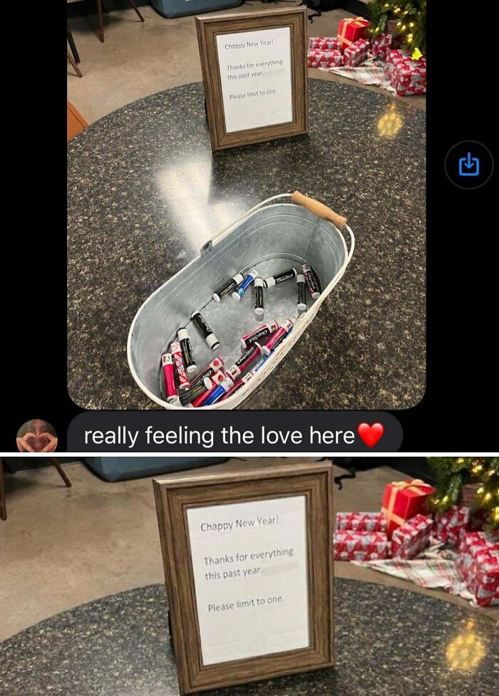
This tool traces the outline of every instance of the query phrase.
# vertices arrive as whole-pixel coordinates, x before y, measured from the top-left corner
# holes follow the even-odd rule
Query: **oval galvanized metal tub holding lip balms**
[[[294,346],[348,266],[354,253],[354,234],[347,224],[342,229],[317,217],[302,205],[272,203],[291,197],[279,194],[248,210],[230,227],[205,244],[200,254],[178,274],[156,290],[135,314],[128,333],[128,364],[140,389],[165,409],[185,407],[165,401],[161,375],[161,354],[167,350],[178,329],[187,328],[198,368],[215,355],[228,368],[240,355],[240,337],[264,321],[291,318],[294,328],[247,385],[233,396],[204,409],[232,409],[239,405],[272,372]],[[324,207],[325,209],[325,207]],[[350,249],[342,231],[350,236]],[[212,293],[227,278],[257,267],[263,278],[308,261],[321,282],[316,300],[307,294],[307,311],[298,316],[296,284],[286,281],[265,291],[264,318],[255,317],[253,293],[248,289],[241,301],[227,296],[220,303]],[[308,291],[307,291],[308,293]],[[189,321],[200,311],[220,341],[212,352]],[[192,409],[190,409],[192,410]],[[197,410],[197,409],[193,409]]]

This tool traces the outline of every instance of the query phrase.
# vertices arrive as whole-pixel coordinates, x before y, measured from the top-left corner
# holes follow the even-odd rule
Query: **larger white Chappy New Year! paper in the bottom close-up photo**
[[[202,662],[307,648],[304,496],[187,510]]]

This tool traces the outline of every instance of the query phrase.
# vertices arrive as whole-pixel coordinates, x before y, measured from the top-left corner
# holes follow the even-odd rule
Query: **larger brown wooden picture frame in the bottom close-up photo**
[[[332,467],[331,464],[282,464],[274,467],[245,470],[241,472],[202,473],[190,475],[171,475],[153,482],[158,525],[160,531],[165,581],[170,608],[170,626],[173,650],[178,668],[178,682],[181,694],[195,693],[218,687],[228,687],[245,682],[269,679],[279,675],[316,670],[334,665],[334,621],[333,621],[333,510],[332,510]],[[195,561],[192,556],[187,516],[199,516],[199,509],[212,514],[227,516],[229,510],[252,510],[254,507],[287,506],[304,499],[304,539],[306,539],[305,573],[307,576],[307,645],[294,650],[274,651],[252,657],[223,660],[220,663],[203,664],[202,641],[200,633],[200,614],[198,611],[195,583]],[[242,505],[240,505],[242,504]],[[260,506],[260,504],[262,504]],[[225,506],[225,507],[220,507]],[[191,510],[191,513],[189,511]],[[194,512],[192,512],[194,510]],[[269,518],[274,519],[274,518]],[[279,518],[278,518],[279,519]],[[279,534],[289,534],[290,516],[284,518]],[[203,522],[202,524],[206,524]],[[201,527],[200,527],[201,528]],[[258,530],[258,543],[262,544],[262,531]],[[242,534],[232,537],[241,544]],[[249,537],[245,537],[248,539]],[[256,539],[254,536],[252,539]],[[222,551],[227,543],[227,535],[222,536],[222,544],[217,541],[217,549]],[[293,542],[294,543],[294,542]],[[297,548],[299,544],[297,543]],[[249,547],[248,547],[249,548]],[[208,553],[202,546],[202,554]],[[294,555],[292,568],[284,582],[279,581],[284,598],[289,589],[289,572],[299,564],[299,554]],[[206,559],[197,559],[197,561]],[[264,568],[264,583],[267,576],[275,576],[279,568]],[[271,578],[271,581],[274,582]],[[239,580],[237,581],[240,582]],[[254,583],[239,584],[241,588],[254,589]],[[262,586],[259,588],[262,589]],[[224,588],[222,587],[222,592]],[[210,605],[212,606],[212,605]],[[289,604],[288,604],[289,607]],[[288,607],[278,611],[288,611]],[[289,611],[296,611],[292,605]],[[245,625],[254,620],[260,627],[262,613],[245,613]],[[284,616],[284,615],[281,615]],[[294,618],[290,620],[298,620]],[[272,617],[273,619],[273,617]],[[224,617],[224,620],[226,618]],[[272,623],[272,626],[275,624]],[[256,629],[255,629],[256,630]],[[261,631],[260,628],[258,630]],[[277,629],[276,629],[277,630]],[[227,634],[228,635],[228,634]],[[217,636],[215,643],[220,640]],[[261,645],[258,638],[258,645]],[[231,644],[232,645],[232,644]],[[237,644],[239,645],[239,643]]]

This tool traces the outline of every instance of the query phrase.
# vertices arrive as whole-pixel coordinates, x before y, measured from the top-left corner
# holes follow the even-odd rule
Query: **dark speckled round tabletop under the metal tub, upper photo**
[[[128,369],[135,312],[220,229],[294,189],[347,214],[357,247],[307,332],[242,407],[392,409],[421,399],[425,114],[313,79],[309,113],[307,136],[212,155],[194,83],[127,105],[69,143],[68,389],[78,405],[156,407]],[[401,128],[382,135],[393,113]]]

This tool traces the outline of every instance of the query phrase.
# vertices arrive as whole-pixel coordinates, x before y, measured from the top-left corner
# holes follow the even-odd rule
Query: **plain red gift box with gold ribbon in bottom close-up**
[[[435,491],[421,479],[393,481],[385,488],[381,512],[388,520],[388,537],[407,519],[426,514],[428,498]]]

